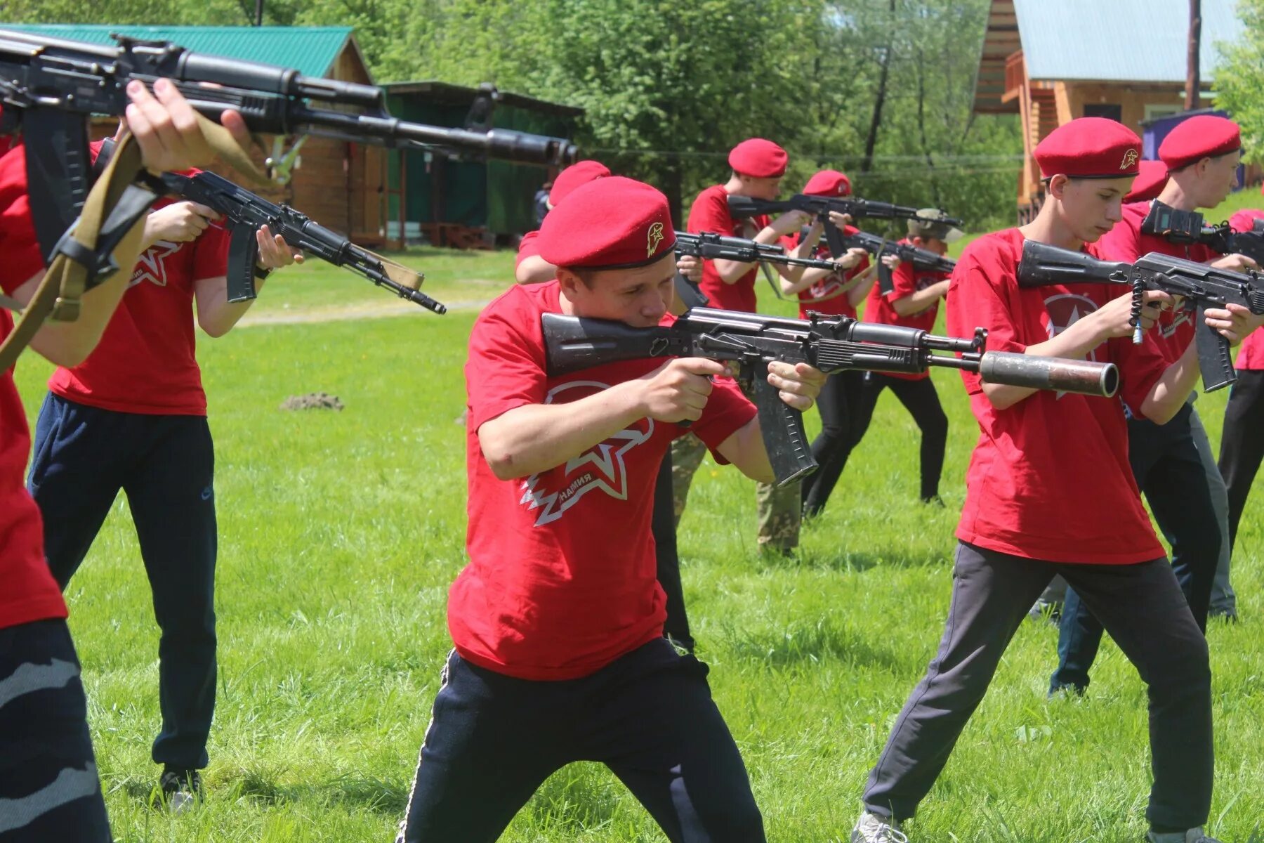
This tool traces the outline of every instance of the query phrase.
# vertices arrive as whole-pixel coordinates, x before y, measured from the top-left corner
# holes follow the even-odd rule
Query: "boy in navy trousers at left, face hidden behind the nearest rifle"
[[[92,144],[92,154],[101,148]],[[100,344],[48,380],[27,478],[62,590],[119,490],[128,495],[162,631],[163,725],[153,760],[164,767],[161,789],[177,809],[200,792],[216,676],[215,452],[191,308],[196,301],[197,324],[222,336],[250,307],[228,301],[229,235],[217,219],[196,202],[154,205],[128,292]],[[267,226],[255,240],[263,270],[301,259]]]

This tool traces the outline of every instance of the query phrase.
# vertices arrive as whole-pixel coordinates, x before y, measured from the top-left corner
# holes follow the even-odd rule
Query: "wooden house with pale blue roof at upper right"
[[[1236,0],[1202,0],[1203,104],[1217,42],[1240,37]],[[1184,109],[1189,6],[1177,0],[992,0],[975,78],[977,114],[1020,114],[1023,171],[1018,215],[1040,207],[1033,149],[1076,118],[1143,123]]]

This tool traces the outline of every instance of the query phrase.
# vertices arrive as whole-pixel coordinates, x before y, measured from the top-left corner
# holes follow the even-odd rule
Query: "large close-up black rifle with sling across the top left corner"
[[[116,47],[0,29],[0,134],[27,144],[30,210],[46,258],[80,214],[91,187],[87,121],[119,116],[126,85],[166,77],[198,112],[219,120],[236,109],[252,131],[315,134],[393,148],[454,149],[535,164],[561,164],[575,147],[561,138],[492,129],[470,131],[398,120],[382,88],[312,78],[258,62],[193,53],[163,40],[114,37]],[[282,155],[286,158],[286,155]]]

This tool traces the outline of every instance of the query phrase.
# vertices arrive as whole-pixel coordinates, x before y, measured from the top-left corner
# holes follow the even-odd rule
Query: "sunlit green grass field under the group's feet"
[[[172,816],[152,805],[158,632],[121,495],[71,585],[123,840],[393,839],[450,647],[446,590],[463,565],[465,431],[454,420],[465,340],[477,302],[508,284],[513,265],[509,253],[406,259],[453,312],[399,303],[416,312],[383,315],[394,312],[388,294],[317,265],[274,276],[253,326],[200,340],[220,519],[219,704],[200,810]],[[766,310],[791,312],[760,283]],[[48,373],[34,355],[19,365],[32,418]],[[776,843],[847,839],[870,766],[939,640],[977,427],[959,378],[937,372],[935,383],[951,420],[945,509],[918,503],[918,431],[890,393],[794,559],[760,557],[753,489],[736,470],[708,461],[694,484],[680,533],[690,619]],[[317,391],[346,408],[279,409]],[[1213,440],[1225,399],[1198,402]],[[819,427],[815,412],[809,425]],[[1264,819],[1264,489],[1237,550],[1243,622],[1208,632],[1217,738],[1208,830],[1226,842],[1260,839]],[[1141,838],[1144,686],[1107,643],[1086,698],[1045,700],[1055,638],[1047,623],[1019,631],[910,827],[914,840]],[[603,767],[575,765],[503,839],[665,838]]]

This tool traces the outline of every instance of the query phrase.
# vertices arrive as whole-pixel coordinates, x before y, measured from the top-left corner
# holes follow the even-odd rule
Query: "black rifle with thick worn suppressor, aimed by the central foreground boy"
[[[1091,396],[1112,396],[1119,385],[1114,364],[987,351],[983,329],[963,340],[847,316],[813,313],[811,318],[799,320],[707,307],[690,310],[671,326],[659,327],[560,313],[545,313],[542,320],[552,375],[643,358],[700,356],[738,363],[738,382],[758,408],[777,485],[810,474],[817,461],[804,432],[803,413],[782,402],[776,387],[767,382],[772,360],[808,363],[827,374],[844,369],[911,373],[945,367],[977,372],[988,383]]]

